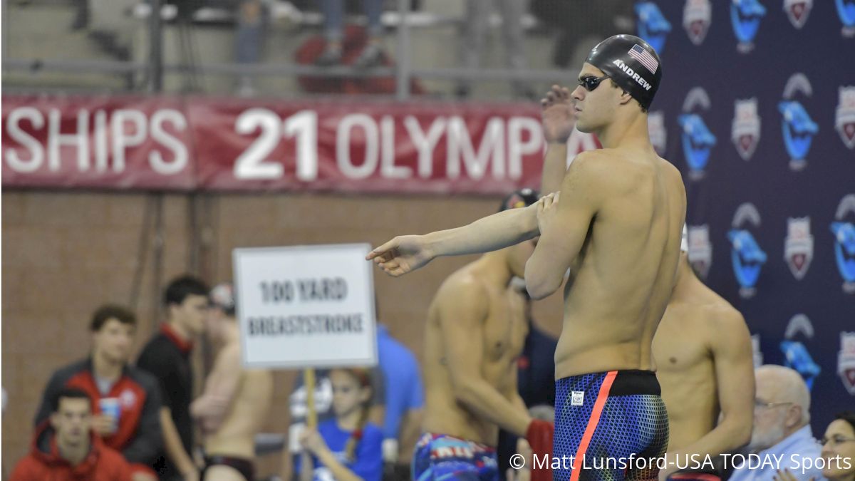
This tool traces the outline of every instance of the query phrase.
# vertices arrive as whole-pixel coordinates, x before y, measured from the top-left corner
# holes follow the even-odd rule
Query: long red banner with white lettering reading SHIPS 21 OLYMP
[[[4,187],[506,193],[543,149],[534,104],[3,96]]]

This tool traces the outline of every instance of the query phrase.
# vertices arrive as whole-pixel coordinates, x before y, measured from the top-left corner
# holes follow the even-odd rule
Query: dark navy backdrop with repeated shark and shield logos
[[[855,0],[635,4],[662,57],[651,138],[682,171],[689,258],[755,363],[811,386],[817,437],[855,409]]]

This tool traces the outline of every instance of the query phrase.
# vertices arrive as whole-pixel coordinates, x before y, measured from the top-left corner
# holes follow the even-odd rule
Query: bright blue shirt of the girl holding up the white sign
[[[323,437],[324,442],[327,442],[327,447],[333,452],[336,459],[350,469],[358,477],[365,481],[380,481],[383,475],[383,456],[381,447],[383,444],[383,431],[371,423],[365,425],[363,429],[363,438],[357,444],[356,458],[353,462],[347,460],[347,440],[351,438],[352,431],[344,431],[339,428],[335,419],[328,419],[318,425],[318,433]],[[302,459],[297,456],[294,465],[294,472],[300,472]],[[321,462],[312,456],[312,466],[314,468],[315,481],[333,481],[333,473],[329,468],[321,465]]]

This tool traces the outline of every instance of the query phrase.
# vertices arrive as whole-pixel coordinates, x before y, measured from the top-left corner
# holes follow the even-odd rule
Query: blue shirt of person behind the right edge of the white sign
[[[383,324],[377,325],[377,355],[386,381],[386,419],[383,436],[398,439],[404,414],[424,406],[422,377],[416,356],[404,344],[389,336]]]

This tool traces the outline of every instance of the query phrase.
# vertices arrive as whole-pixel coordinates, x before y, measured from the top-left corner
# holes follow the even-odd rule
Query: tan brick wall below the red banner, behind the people
[[[202,250],[193,250],[191,200],[162,197],[162,270],[155,278],[154,245],[141,236],[153,194],[3,192],[3,465],[10,472],[27,451],[32,416],[50,372],[79,359],[89,348],[87,324],[104,302],[128,305],[142,264],[136,305],[140,325],[135,353],[156,330],[157,285],[192,270],[205,280],[231,276],[231,252],[239,246],[370,242],[471,222],[495,211],[497,199],[439,197],[348,197],[338,195],[217,195],[197,201]],[[150,234],[150,233],[149,233]],[[392,279],[379,271],[375,288],[380,318],[392,336],[422,355],[422,325],[439,283],[474,256],[444,258],[428,269]],[[407,302],[398,302],[406,299]],[[560,299],[537,303],[535,318],[545,330],[560,330]],[[203,366],[201,350],[195,363]],[[275,376],[274,408],[266,431],[284,432],[293,371]],[[198,382],[197,385],[200,385]],[[259,463],[259,474],[279,469],[278,456]]]

